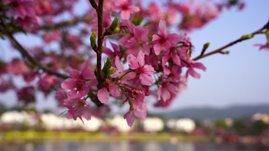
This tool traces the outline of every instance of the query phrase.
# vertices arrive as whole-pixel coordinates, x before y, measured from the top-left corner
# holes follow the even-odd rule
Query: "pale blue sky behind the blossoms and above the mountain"
[[[148,1],[146,1],[148,3]],[[193,57],[200,54],[202,46],[210,42],[206,52],[220,48],[227,43],[240,38],[243,34],[249,34],[260,29],[269,19],[269,1],[248,0],[243,11],[231,9],[224,11],[218,19],[207,26],[194,30],[188,34],[195,46]],[[35,37],[17,35],[16,38],[23,44]],[[231,105],[269,104],[269,51],[259,51],[253,47],[255,43],[265,44],[264,35],[256,35],[252,39],[238,43],[226,50],[228,55],[214,54],[198,60],[207,70],[197,70],[201,73],[201,79],[189,79],[188,88],[180,94],[167,110],[175,110],[188,107],[227,107]],[[39,41],[36,41],[39,42]],[[9,60],[12,56],[20,56],[15,50],[9,50],[7,40],[0,41],[1,58]],[[18,80],[20,81],[20,80]],[[37,108],[56,109],[53,97],[44,99],[38,95]],[[44,102],[45,100],[45,102]],[[8,106],[16,104],[16,95],[12,92],[0,94],[0,101]],[[151,101],[149,101],[151,102]],[[149,107],[149,111],[163,111]]]

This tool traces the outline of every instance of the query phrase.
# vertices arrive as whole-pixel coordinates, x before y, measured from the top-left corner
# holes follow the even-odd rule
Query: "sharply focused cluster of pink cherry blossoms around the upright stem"
[[[167,106],[178,94],[179,85],[184,83],[181,81],[182,76],[188,78],[190,74],[199,79],[200,74],[194,68],[205,70],[202,63],[189,59],[192,46],[188,38],[168,33],[165,21],[159,21],[158,31],[153,35],[149,35],[147,28],[135,26],[129,20],[124,20],[121,28],[125,30],[120,33],[123,37],[119,39],[119,45],[111,43],[114,52],[104,47],[104,53],[115,60],[109,62],[110,59],[107,59],[104,64],[102,77],[105,81],[101,88],[97,89],[96,74],[88,68],[89,59],[82,64],[80,72],[66,69],[71,78],[61,86],[70,90],[69,98],[61,101],[69,109],[67,118],[81,118],[81,115],[89,117],[89,104],[85,101],[87,96],[95,96],[91,99],[97,97],[98,101],[107,104],[111,95],[117,100],[123,100],[123,103],[129,103],[130,109],[124,118],[132,126],[135,116],[146,118],[146,96],[154,95],[152,91],[156,89],[155,86],[156,106]],[[124,69],[121,60],[127,60],[129,67]],[[185,75],[181,73],[183,67],[188,68]],[[114,69],[114,73],[106,75],[107,68]],[[87,112],[84,112],[85,108]]]

